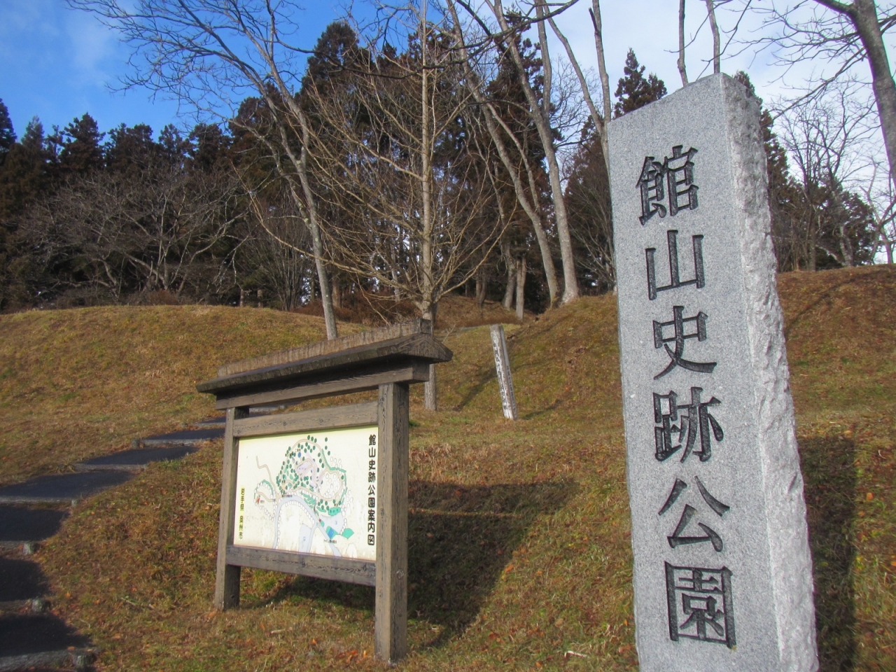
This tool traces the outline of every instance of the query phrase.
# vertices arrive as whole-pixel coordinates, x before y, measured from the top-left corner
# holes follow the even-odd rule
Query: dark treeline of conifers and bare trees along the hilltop
[[[523,28],[476,50],[420,22],[373,50],[336,22],[295,90],[275,73],[185,134],[101,133],[85,114],[17,138],[0,101],[0,310],[261,290],[286,310],[433,316],[447,292],[540,311],[612,290],[607,113],[582,114]],[[644,71],[630,51],[614,116],[666,94]],[[821,164],[791,175],[768,111],[762,125],[780,270],[870,263],[868,204]]]

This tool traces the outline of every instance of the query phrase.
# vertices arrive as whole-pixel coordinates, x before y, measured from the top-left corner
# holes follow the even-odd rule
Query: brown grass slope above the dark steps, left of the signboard
[[[195,384],[221,363],[324,335],[319,318],[220,306],[2,315],[0,485],[208,417]]]

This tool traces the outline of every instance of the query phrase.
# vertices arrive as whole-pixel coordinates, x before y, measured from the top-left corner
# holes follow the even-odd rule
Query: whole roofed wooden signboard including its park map
[[[375,653],[407,650],[410,383],[451,350],[424,320],[222,366],[226,411],[215,606],[242,567],[375,586]],[[249,417],[252,406],[378,390],[377,401]]]

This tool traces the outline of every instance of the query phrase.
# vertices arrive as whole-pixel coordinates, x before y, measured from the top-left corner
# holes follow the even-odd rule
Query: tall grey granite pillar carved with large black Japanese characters
[[[642,672],[810,672],[758,105],[712,75],[608,133]]]

